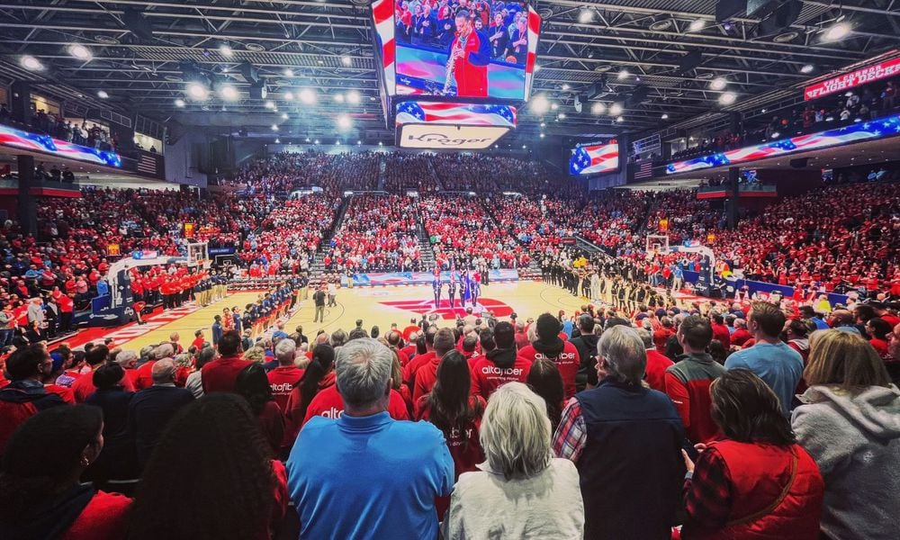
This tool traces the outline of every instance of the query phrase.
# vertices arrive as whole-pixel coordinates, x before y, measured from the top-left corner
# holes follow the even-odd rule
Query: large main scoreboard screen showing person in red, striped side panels
[[[375,0],[389,95],[525,101],[541,18],[522,2]]]

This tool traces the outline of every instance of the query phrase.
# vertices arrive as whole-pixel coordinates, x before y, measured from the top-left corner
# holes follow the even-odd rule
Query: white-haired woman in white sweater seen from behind
[[[544,400],[507,383],[484,411],[485,463],[464,473],[444,520],[445,538],[581,538],[584,507],[578,471],[554,458]]]

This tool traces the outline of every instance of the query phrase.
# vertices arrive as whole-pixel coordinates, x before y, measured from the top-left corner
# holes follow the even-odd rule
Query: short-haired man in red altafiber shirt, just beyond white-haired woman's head
[[[498,322],[493,338],[496,348],[485,353],[472,369],[472,393],[485,401],[503,384],[525,383],[532,364],[531,360],[517,354],[516,330],[509,322]]]

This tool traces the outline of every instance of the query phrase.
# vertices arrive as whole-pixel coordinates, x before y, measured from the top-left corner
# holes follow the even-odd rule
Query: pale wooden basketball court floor
[[[224,300],[200,309],[187,306],[174,312],[166,312],[149,320],[147,325],[131,325],[124,329],[110,330],[105,336],[115,339],[115,347],[139,350],[140,347],[156,345],[177,332],[180,342],[186,348],[193,341],[195,330],[202,329],[208,341],[211,341],[213,317],[222,309],[231,306],[243,307],[253,302],[257,293],[233,293]],[[401,329],[407,326],[410,319],[421,317],[422,313],[437,315],[439,326],[451,326],[456,315],[465,315],[455,302],[451,309],[446,297],[441,307],[435,309],[434,297],[430,285],[414,285],[399,287],[355,287],[338,291],[336,307],[325,309],[325,321],[313,322],[314,308],[312,299],[299,302],[299,309],[286,321],[285,331],[293,332],[297,326],[303,327],[307,336],[315,336],[320,329],[333,332],[336,329],[349,331],[356,326],[356,320],[363,320],[365,329],[377,325],[382,332],[396,323]],[[559,287],[542,282],[521,281],[513,283],[494,283],[482,286],[480,308],[490,310],[498,319],[509,320],[509,314],[516,312],[519,320],[549,311],[554,315],[563,310],[571,315],[588,303],[585,298],[577,298]],[[478,310],[476,310],[478,311]]]

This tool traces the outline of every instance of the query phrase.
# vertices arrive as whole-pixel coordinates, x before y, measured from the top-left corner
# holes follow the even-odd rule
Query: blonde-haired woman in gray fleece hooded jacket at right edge
[[[896,538],[900,516],[900,390],[858,334],[815,332],[804,405],[791,420],[797,442],[825,481],[822,536]]]

